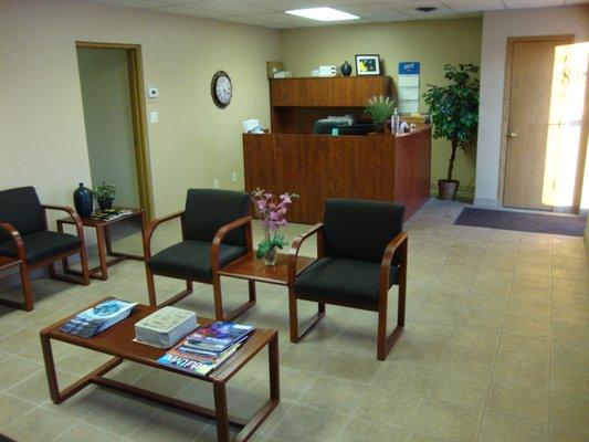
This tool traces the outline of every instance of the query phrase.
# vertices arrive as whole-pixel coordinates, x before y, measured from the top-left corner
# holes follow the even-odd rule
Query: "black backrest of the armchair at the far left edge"
[[[0,222],[8,222],[21,236],[46,230],[43,208],[32,187],[19,187],[0,191]],[[10,235],[0,229],[0,243]]]

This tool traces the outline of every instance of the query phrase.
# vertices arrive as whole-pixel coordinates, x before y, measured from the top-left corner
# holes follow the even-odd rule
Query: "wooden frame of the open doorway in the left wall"
[[[154,190],[151,186],[151,168],[149,167],[141,45],[76,41],[75,46],[76,49],[122,49],[127,53],[139,203],[145,209],[147,220],[150,221],[154,218]]]

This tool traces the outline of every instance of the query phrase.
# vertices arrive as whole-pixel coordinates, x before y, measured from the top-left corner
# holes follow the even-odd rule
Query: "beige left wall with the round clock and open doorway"
[[[243,188],[241,122],[270,124],[265,61],[278,57],[276,31],[83,1],[0,0],[0,189],[33,185],[42,200],[71,206],[77,182],[91,182],[76,40],[143,46],[145,83],[160,90],[147,105],[159,112],[148,125],[157,214],[213,178]],[[224,110],[210,98],[217,70],[235,91]]]

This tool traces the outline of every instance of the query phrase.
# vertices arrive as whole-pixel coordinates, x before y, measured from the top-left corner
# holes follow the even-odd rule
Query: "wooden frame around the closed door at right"
[[[507,129],[509,124],[509,99],[512,97],[512,63],[513,51],[515,43],[522,42],[538,42],[538,41],[559,41],[568,40],[571,44],[575,42],[575,34],[559,34],[559,35],[529,35],[529,36],[508,36],[507,51],[505,56],[505,76],[503,80],[503,115],[501,123],[501,159],[499,159],[499,189],[498,200],[503,206],[503,198],[505,192],[505,166],[507,158]]]

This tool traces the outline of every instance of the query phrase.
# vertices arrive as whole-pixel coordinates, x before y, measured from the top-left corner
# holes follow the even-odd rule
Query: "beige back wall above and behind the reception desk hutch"
[[[355,54],[380,54],[385,73],[397,83],[398,63],[421,62],[421,93],[425,85],[444,84],[445,63],[480,63],[481,19],[306,28],[281,31],[281,60],[294,76],[308,76],[319,64],[355,66]],[[356,69],[353,75],[356,74]],[[421,103],[421,112],[427,107]],[[432,182],[445,178],[450,144],[432,144]],[[474,180],[475,155],[460,151],[454,165],[461,187]]]

